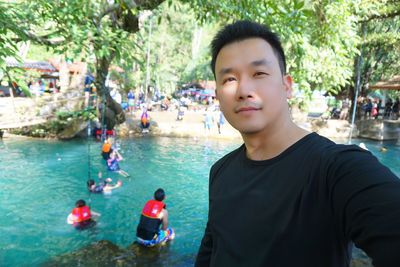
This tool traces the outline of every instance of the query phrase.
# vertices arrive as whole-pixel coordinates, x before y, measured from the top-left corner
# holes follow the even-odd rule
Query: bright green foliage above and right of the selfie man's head
[[[359,42],[353,1],[202,2],[195,1],[193,7],[203,21],[251,19],[278,32],[288,71],[307,95],[315,89],[335,94],[350,82]]]

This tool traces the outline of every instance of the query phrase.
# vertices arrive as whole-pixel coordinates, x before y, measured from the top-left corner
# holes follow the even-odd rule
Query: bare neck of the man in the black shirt
[[[289,120],[279,127],[257,134],[242,134],[242,137],[249,159],[267,160],[278,156],[309,133]]]

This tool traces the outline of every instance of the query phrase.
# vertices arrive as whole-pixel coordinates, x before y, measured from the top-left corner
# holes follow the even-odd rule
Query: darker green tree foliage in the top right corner
[[[362,36],[360,89],[366,95],[368,84],[397,75],[400,69],[400,1],[366,2],[357,15]],[[350,92],[354,95],[354,87]]]

